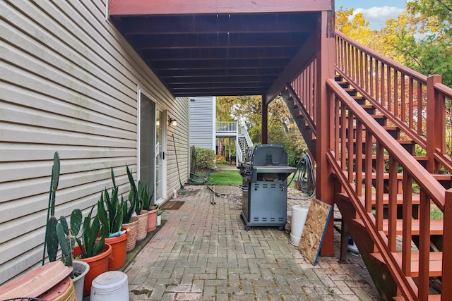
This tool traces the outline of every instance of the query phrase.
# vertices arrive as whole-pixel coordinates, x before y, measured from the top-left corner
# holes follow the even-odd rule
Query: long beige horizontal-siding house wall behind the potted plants
[[[0,283],[40,264],[52,158],[61,157],[55,215],[87,214],[112,187],[126,196],[136,175],[138,92],[167,128],[167,191],[189,168],[189,99],[174,99],[105,18],[105,0],[0,1]]]

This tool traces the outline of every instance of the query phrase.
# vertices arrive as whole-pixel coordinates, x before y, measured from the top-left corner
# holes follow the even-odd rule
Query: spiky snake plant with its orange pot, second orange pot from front
[[[127,238],[129,230],[122,228],[124,208],[127,204],[119,202],[118,190],[114,180],[112,168],[112,197],[109,196],[107,189],[100,194],[100,200],[97,202],[97,216],[99,216],[100,233],[105,237],[105,242],[112,245],[112,254],[108,262],[108,270],[114,271],[120,269],[126,264]]]

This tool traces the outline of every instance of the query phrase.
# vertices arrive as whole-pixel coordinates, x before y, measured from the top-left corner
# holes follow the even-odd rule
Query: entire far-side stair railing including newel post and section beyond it
[[[427,169],[452,173],[451,88],[350,39],[338,30],[336,71],[427,154]],[[448,128],[446,129],[446,126]]]

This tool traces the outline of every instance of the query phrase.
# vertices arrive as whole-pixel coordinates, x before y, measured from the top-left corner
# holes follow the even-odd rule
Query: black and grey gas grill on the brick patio
[[[281,145],[256,145],[246,152],[239,166],[243,178],[242,213],[245,229],[278,226],[287,221],[287,176],[297,168],[287,166]]]

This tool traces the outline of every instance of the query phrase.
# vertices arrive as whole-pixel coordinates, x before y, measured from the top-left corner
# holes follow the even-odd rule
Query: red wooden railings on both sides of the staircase
[[[441,77],[426,77],[360,45],[336,31],[336,72],[367,102],[400,128],[405,139],[424,149],[427,170],[333,79],[326,82],[330,110],[330,151],[341,189],[347,193],[374,241],[400,294],[406,300],[428,300],[430,204],[444,212],[441,300],[452,300],[452,189],[446,190],[430,173],[451,172],[452,89]],[[316,59],[312,59],[287,90],[295,98],[299,116],[316,129]],[[334,105],[333,105],[334,104]],[[446,106],[446,104],[449,104]],[[295,116],[296,117],[296,116]],[[352,134],[353,133],[353,134]],[[347,138],[347,136],[350,136]],[[344,137],[344,139],[342,139]],[[323,159],[321,159],[323,161]],[[352,167],[350,167],[352,166]],[[388,232],[383,231],[383,180],[388,179]],[[397,243],[397,194],[403,180],[403,234]],[[411,275],[412,183],[420,188],[420,242],[418,280]],[[374,199],[372,199],[374,198]],[[400,238],[398,238],[400,239]],[[398,254],[399,252],[399,254]]]

